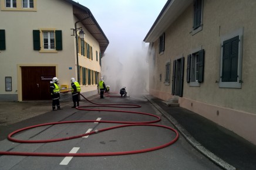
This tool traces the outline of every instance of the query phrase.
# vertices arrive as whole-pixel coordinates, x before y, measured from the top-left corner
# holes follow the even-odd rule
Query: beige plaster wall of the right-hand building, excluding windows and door
[[[192,35],[193,4],[165,31],[165,50],[159,54],[158,40],[156,66],[150,67],[150,93],[166,100],[171,85],[159,81],[164,79],[165,63],[185,57],[183,98],[180,106],[213,120],[256,144],[256,1],[210,1],[204,0],[203,30]],[[242,88],[220,88],[221,38],[243,29],[242,47]],[[187,55],[198,49],[205,50],[204,82],[200,87],[190,86],[187,81]],[[150,60],[153,65],[153,59]],[[193,103],[193,107],[191,107]],[[218,116],[217,116],[218,110]]]

